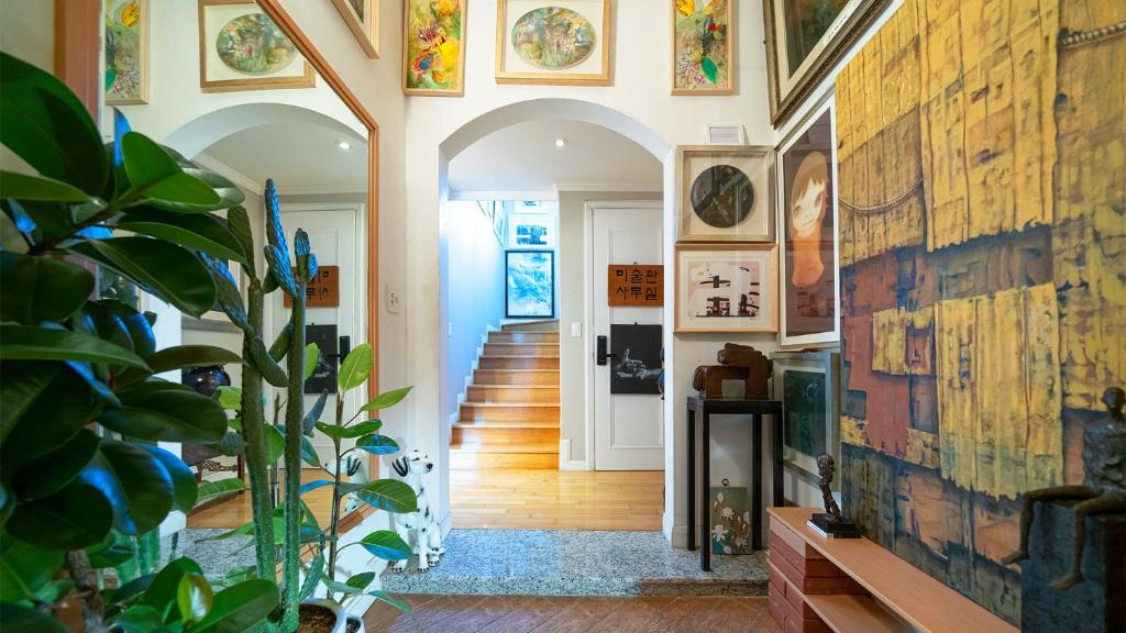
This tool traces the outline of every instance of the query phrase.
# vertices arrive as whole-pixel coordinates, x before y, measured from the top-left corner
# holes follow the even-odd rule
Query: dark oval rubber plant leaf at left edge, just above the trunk
[[[5,529],[48,550],[80,550],[101,543],[113,523],[114,510],[98,489],[75,482],[51,497],[20,503]]]

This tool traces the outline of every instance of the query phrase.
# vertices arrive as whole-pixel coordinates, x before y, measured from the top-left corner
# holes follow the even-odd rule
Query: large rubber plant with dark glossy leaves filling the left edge
[[[111,270],[187,314],[211,309],[202,258],[244,259],[215,214],[242,194],[124,117],[104,145],[65,86],[2,53],[0,96],[0,142],[29,167],[0,171],[3,628],[258,627],[279,604],[270,577],[213,586],[188,559],[160,569],[155,547],[170,512],[213,492],[158,443],[235,439],[217,402],[157,374],[240,357],[158,350],[153,314],[95,293]]]

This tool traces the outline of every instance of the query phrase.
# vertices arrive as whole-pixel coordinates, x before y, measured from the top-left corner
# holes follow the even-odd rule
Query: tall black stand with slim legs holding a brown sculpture
[[[700,422],[700,503],[696,508],[696,421]],[[696,549],[696,537],[699,536],[700,569],[712,571],[712,538],[709,527],[708,493],[711,482],[711,455],[708,440],[712,437],[712,416],[751,416],[752,460],[751,472],[751,546],[762,549],[762,471],[767,463],[762,458],[762,416],[770,416],[774,426],[770,433],[770,466],[772,467],[771,505],[781,506],[781,402],[778,400],[742,400],[726,398],[688,399],[688,549]],[[696,512],[699,512],[699,527],[696,526]],[[697,532],[697,529],[699,532]]]

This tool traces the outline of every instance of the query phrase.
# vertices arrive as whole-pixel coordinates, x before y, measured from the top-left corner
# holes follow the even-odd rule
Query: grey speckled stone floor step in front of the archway
[[[396,594],[525,596],[765,596],[766,552],[713,556],[669,546],[660,532],[454,529],[437,567],[388,569]]]

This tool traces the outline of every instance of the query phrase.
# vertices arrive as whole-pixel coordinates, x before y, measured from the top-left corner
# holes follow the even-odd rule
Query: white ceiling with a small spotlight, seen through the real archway
[[[564,148],[555,140],[565,139]],[[661,187],[661,162],[605,127],[577,121],[533,121],[499,130],[449,163],[453,195],[467,191],[552,191],[571,188]]]

